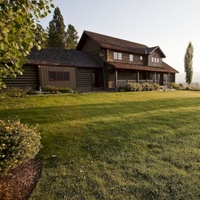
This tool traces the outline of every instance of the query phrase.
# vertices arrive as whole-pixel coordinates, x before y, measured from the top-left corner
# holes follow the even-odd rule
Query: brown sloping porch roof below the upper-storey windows
[[[178,73],[177,70],[163,62],[162,67],[135,65],[129,63],[120,62],[106,62],[108,65],[115,69],[127,69],[127,70],[137,70],[137,71],[151,71],[151,72],[167,72],[167,73]]]

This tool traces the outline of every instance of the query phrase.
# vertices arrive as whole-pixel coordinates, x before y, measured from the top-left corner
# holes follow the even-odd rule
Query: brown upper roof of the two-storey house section
[[[93,33],[90,31],[83,32],[81,39],[78,43],[78,46],[76,48],[77,50],[82,49],[87,38],[90,38],[91,40],[95,41],[101,48],[105,48],[105,49],[112,49],[116,51],[124,51],[124,52],[143,54],[143,55],[148,55],[158,49],[162,57],[163,58],[166,57],[165,54],[160,49],[160,47],[158,46],[149,48],[144,44],[130,42],[127,40],[114,38],[114,37],[102,35],[99,33]]]

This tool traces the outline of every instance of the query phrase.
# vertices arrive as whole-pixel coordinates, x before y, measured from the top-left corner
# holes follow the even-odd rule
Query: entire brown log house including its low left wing
[[[47,85],[80,91],[115,89],[127,83],[175,82],[174,68],[163,62],[159,46],[147,47],[84,31],[76,50],[33,49],[23,76],[5,79],[8,87],[42,89]]]

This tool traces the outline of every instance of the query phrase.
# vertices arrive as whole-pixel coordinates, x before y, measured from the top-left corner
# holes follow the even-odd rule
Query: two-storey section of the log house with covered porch
[[[147,47],[110,36],[84,31],[77,50],[89,52],[103,68],[103,87],[116,88],[127,83],[175,82],[177,70],[163,62],[159,46]]]

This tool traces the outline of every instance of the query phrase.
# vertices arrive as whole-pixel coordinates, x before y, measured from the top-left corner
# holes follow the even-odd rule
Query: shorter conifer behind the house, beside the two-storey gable
[[[75,49],[78,44],[78,32],[71,24],[68,25],[66,32],[66,49]]]

